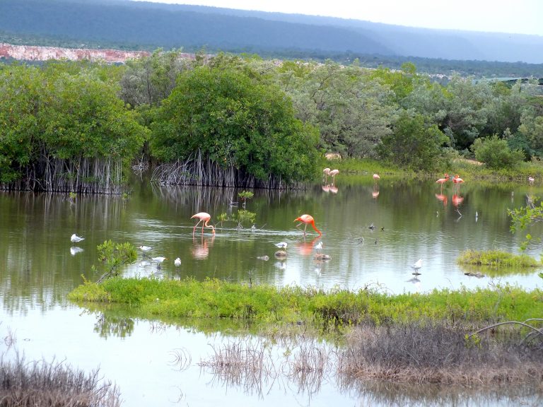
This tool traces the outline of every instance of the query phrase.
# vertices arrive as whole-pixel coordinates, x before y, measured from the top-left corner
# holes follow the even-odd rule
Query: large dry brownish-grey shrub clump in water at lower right
[[[539,383],[543,352],[511,331],[469,338],[448,323],[421,320],[394,326],[358,326],[339,354],[346,376],[443,384]]]

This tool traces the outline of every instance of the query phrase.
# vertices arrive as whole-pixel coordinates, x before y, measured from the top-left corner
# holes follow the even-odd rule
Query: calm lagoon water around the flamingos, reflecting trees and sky
[[[216,235],[197,230],[190,217],[211,213],[233,215],[239,191],[158,187],[134,183],[121,196],[66,196],[30,193],[0,194],[1,338],[5,357],[17,349],[27,360],[64,360],[83,370],[100,368],[115,382],[124,406],[506,406],[507,392],[475,392],[438,387],[348,382],[327,372],[312,384],[288,374],[289,360],[280,346],[271,346],[274,374],[267,377],[224,377],[200,362],[214,349],[236,340],[228,326],[194,327],[184,322],[144,321],[122,309],[87,309],[71,304],[66,294],[95,280],[100,271],[96,246],[104,240],[151,246],[151,256],[165,256],[162,268],[139,261],[127,276],[197,279],[272,285],[366,286],[390,294],[426,292],[434,288],[477,288],[514,284],[541,287],[538,271],[484,271],[484,278],[465,276],[456,264],[467,249],[501,249],[518,253],[522,234],[513,235],[508,208],[524,206],[542,190],[527,185],[479,186],[466,182],[440,189],[430,181],[397,182],[382,177],[376,187],[370,176],[337,177],[336,185],[306,191],[254,191],[247,210],[256,213],[255,227],[218,225]],[[309,213],[322,237],[308,227],[296,228],[295,218]],[[372,226],[374,228],[370,228]],[[536,226],[532,235],[541,235]],[[70,242],[73,233],[85,240]],[[322,241],[328,261],[315,261],[314,245]],[[276,242],[287,242],[285,261],[274,258]],[[539,259],[540,247],[528,254]],[[269,256],[268,261],[258,257]],[[180,257],[179,268],[173,259]],[[411,264],[423,260],[421,276]],[[230,331],[229,331],[230,329]],[[257,338],[254,338],[257,340]],[[180,366],[182,360],[182,366]],[[281,374],[279,374],[281,372]],[[517,397],[515,395],[515,397]],[[525,391],[521,401],[533,404],[540,395]],[[518,401],[518,399],[515,399]],[[516,403],[515,401],[515,403]]]

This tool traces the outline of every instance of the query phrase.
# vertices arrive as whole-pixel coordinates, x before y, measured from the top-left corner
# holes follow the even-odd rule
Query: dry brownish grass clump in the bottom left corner
[[[27,362],[23,356],[0,360],[0,406],[118,407],[120,391],[98,370],[76,370],[64,362]]]

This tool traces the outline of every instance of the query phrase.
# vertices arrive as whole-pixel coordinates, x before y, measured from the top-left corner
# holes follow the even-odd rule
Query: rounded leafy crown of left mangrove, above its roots
[[[53,78],[43,98],[41,138],[54,158],[129,161],[143,144],[145,129],[117,98],[117,87],[92,72]]]

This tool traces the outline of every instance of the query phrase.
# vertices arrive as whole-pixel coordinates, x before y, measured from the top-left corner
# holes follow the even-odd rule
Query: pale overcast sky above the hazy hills
[[[136,0],[543,36],[543,0]]]

